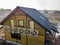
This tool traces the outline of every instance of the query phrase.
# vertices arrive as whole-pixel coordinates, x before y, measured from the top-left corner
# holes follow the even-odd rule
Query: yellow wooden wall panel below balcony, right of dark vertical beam
[[[28,36],[28,45],[44,45],[45,36]]]

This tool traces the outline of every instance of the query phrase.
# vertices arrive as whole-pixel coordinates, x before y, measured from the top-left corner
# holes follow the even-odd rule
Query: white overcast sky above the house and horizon
[[[0,0],[0,8],[14,9],[16,6],[60,10],[60,0]]]

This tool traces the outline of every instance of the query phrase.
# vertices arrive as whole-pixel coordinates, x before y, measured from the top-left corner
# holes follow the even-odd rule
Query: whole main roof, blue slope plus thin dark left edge
[[[41,25],[47,31],[51,30],[48,19],[45,16],[43,16],[43,14],[39,13],[37,10],[31,9],[31,8],[24,8],[24,7],[17,6],[17,8],[15,8],[12,11],[12,13],[10,13],[9,16],[7,16],[5,19],[9,18],[11,16],[11,14],[13,14],[17,9],[18,10],[21,9],[23,12],[25,12],[27,14],[27,16],[31,17],[34,21],[36,21],[39,25]],[[5,21],[5,19],[1,23],[3,23]]]

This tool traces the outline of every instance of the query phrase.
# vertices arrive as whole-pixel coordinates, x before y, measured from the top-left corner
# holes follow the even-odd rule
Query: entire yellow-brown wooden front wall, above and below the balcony
[[[27,14],[25,14],[21,10],[16,10],[16,12],[13,13],[12,16],[10,16],[3,24],[10,26],[11,19],[14,19],[15,26],[18,26],[19,19],[23,19],[24,20],[24,28],[28,28],[29,21],[33,20],[32,18],[27,16]],[[18,40],[18,39],[16,40],[14,38],[11,38],[10,32],[5,32],[6,40],[10,40],[10,41],[17,42],[17,43],[22,43],[24,45],[44,45],[44,43],[45,43],[45,29],[42,26],[40,26],[39,24],[37,24],[37,22],[34,21],[34,23],[35,23],[35,29],[37,29],[38,33],[39,33],[38,37],[26,36],[24,34],[21,34],[21,40]]]

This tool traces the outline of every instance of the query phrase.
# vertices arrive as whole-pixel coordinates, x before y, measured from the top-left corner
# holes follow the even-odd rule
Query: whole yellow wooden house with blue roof
[[[51,33],[51,30],[57,32],[57,30],[50,25],[48,18],[42,13],[36,9],[19,6],[2,20],[0,24],[10,26],[10,30],[14,30],[14,28],[11,29],[12,27],[16,27],[15,29],[18,31],[21,30],[19,28],[22,28],[25,31],[28,30],[26,34],[28,34],[28,32],[35,32],[36,30],[37,36],[31,36],[31,34],[26,35],[25,33],[4,32],[6,40],[23,45],[46,45],[46,32],[49,34]],[[5,27],[5,30],[7,30],[7,27]],[[32,34],[34,34],[34,32]]]

